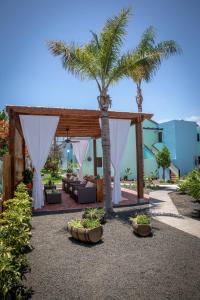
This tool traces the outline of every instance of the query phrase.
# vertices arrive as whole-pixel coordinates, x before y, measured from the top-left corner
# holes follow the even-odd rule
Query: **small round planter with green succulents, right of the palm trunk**
[[[146,214],[137,215],[130,218],[133,231],[140,236],[149,236],[152,233],[151,217]]]

